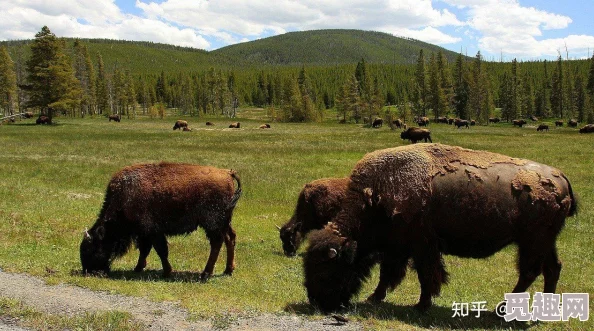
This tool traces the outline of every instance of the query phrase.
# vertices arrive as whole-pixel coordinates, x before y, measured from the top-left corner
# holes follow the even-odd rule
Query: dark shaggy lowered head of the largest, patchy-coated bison
[[[355,265],[357,242],[341,237],[330,227],[311,233],[303,259],[309,302],[323,312],[347,305],[359,292],[368,273]]]

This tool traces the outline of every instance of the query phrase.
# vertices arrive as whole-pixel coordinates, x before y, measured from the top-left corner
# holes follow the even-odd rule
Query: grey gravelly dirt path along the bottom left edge
[[[0,297],[22,301],[33,309],[56,315],[117,310],[130,313],[148,330],[214,330],[212,321],[189,321],[188,313],[178,304],[153,302],[140,297],[95,292],[73,285],[47,285],[25,274],[0,271]],[[0,330],[3,330],[0,322]],[[263,314],[237,318],[228,323],[230,330],[360,330],[358,323],[337,325],[328,317],[311,321],[299,316]]]

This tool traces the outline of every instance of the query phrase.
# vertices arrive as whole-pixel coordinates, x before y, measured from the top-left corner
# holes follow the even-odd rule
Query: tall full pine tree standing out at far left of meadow
[[[44,26],[35,34],[31,58],[27,61],[28,106],[40,108],[50,122],[55,110],[73,111],[81,100],[82,91],[64,48],[64,42]]]

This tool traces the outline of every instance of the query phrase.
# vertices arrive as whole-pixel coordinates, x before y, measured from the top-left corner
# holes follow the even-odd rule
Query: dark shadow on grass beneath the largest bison
[[[306,302],[290,303],[285,306],[285,311],[300,315],[322,314],[318,309]],[[371,304],[361,302],[353,304],[337,313],[356,317],[356,319],[372,319],[377,321],[399,321],[405,324],[422,328],[456,328],[456,329],[505,329],[527,330],[535,324],[525,322],[506,322],[493,311],[481,312],[480,317],[475,317],[470,312],[466,317],[452,317],[453,311],[449,307],[433,306],[426,313],[420,313],[412,306],[395,305],[390,302]]]

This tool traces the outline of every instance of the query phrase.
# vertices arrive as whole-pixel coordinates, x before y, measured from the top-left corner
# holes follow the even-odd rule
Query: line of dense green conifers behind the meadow
[[[367,63],[325,66],[222,66],[160,74],[110,68],[82,40],[72,46],[46,26],[12,58],[0,47],[0,109],[26,109],[50,118],[120,114],[233,117],[239,105],[264,107],[279,121],[306,122],[335,109],[338,120],[373,116],[457,117],[486,123],[489,117],[576,118],[594,122],[594,56],[588,60],[488,62],[459,54],[453,63],[441,52],[416,64]],[[395,106],[395,107],[386,107]],[[496,111],[496,108],[498,109]]]

